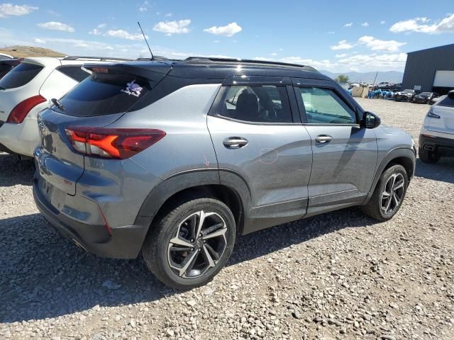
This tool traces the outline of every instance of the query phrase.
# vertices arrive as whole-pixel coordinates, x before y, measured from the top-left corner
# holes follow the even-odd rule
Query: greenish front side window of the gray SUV
[[[330,89],[298,87],[306,108],[307,123],[355,124],[355,112]]]

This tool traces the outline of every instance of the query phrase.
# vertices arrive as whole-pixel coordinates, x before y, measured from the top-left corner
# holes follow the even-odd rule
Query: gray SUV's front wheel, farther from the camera
[[[365,215],[375,220],[391,220],[404,201],[409,179],[404,166],[396,164],[385,171],[369,202],[361,207]]]

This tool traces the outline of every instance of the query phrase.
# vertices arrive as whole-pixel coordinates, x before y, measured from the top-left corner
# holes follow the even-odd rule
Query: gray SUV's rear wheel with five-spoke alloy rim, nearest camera
[[[231,210],[213,198],[176,203],[151,228],[143,259],[162,283],[176,289],[208,283],[226,265],[236,239]]]

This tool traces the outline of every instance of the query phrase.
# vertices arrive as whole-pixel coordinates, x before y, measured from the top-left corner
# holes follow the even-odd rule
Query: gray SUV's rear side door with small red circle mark
[[[233,171],[248,184],[252,209],[247,214],[257,222],[253,229],[306,213],[311,138],[301,126],[289,84],[281,77],[233,78],[207,118],[221,182],[223,171]]]

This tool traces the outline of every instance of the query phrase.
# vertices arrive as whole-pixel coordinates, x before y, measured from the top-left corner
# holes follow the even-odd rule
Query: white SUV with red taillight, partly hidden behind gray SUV
[[[33,157],[39,134],[36,115],[52,98],[61,98],[87,78],[85,62],[111,63],[116,58],[36,57],[21,60],[0,79],[0,152]],[[124,60],[123,60],[124,61]]]

